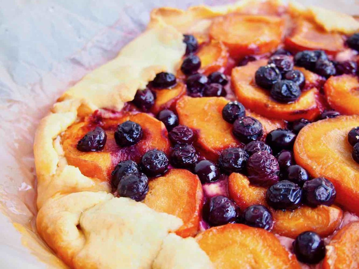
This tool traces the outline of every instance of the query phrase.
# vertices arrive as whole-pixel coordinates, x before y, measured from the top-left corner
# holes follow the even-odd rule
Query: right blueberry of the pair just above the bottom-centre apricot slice
[[[270,230],[273,226],[273,218],[268,208],[255,204],[244,209],[243,223],[251,227]]]

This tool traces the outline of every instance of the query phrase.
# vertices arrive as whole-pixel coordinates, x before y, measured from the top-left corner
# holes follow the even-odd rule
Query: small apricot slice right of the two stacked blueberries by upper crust
[[[197,56],[201,59],[200,72],[209,75],[227,65],[228,49],[222,42],[212,40],[201,46]]]

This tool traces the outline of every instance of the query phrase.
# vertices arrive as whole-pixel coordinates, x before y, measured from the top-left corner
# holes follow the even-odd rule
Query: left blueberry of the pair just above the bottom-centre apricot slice
[[[203,210],[203,217],[211,226],[234,222],[236,216],[237,211],[234,202],[221,195],[211,197]]]

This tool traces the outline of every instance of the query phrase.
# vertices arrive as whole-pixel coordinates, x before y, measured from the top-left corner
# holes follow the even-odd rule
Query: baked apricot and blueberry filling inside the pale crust
[[[176,74],[80,118],[61,135],[64,156],[181,218],[177,235],[215,268],[354,268],[359,34],[269,4],[247,13],[184,33]]]

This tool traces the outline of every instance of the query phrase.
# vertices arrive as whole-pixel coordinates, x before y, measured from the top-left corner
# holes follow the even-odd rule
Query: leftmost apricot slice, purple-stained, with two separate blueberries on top
[[[125,121],[139,123],[143,129],[142,139],[134,146],[120,147],[116,144],[114,133],[118,124]],[[77,142],[90,130],[101,126],[107,134],[107,142],[101,152],[81,152]],[[109,180],[111,171],[120,161],[139,162],[145,152],[157,148],[169,152],[170,143],[164,124],[145,113],[124,114],[117,118],[89,117],[70,126],[62,135],[62,148],[69,165],[76,166],[85,176],[103,181]]]

